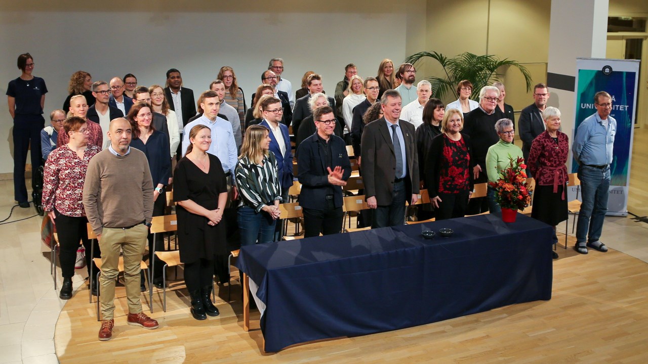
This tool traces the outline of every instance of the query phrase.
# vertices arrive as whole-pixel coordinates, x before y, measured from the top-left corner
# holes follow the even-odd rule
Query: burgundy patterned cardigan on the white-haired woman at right
[[[540,133],[533,139],[527,159],[535,183],[541,186],[553,185],[554,192],[568,180],[565,163],[569,155],[569,138],[561,131],[557,131],[556,135],[558,141],[548,131]]]

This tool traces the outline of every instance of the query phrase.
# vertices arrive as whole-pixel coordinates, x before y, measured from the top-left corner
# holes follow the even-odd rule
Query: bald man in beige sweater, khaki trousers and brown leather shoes
[[[119,253],[123,251],[124,282],[128,300],[128,324],[157,328],[157,321],[142,312],[140,262],[153,212],[153,183],[146,155],[130,148],[128,120],[110,122],[110,146],[90,160],[83,189],[87,220],[97,234],[101,248],[99,280],[101,313],[104,321],[99,340],[110,340],[115,324],[115,281]]]

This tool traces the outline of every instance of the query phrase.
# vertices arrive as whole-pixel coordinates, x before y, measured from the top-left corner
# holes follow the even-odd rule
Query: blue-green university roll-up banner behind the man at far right
[[[628,214],[628,188],[639,63],[638,60],[576,59],[576,120],[572,142],[581,122],[596,113],[594,95],[598,91],[606,91],[612,96],[610,116],[616,120],[617,131],[614,137],[612,165],[610,165],[612,180],[610,181],[608,215],[626,216]],[[572,173],[577,171],[578,164],[572,157]]]

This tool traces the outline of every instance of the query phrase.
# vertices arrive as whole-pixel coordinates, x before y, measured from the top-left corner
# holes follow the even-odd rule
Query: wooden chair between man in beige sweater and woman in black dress
[[[150,232],[153,233],[153,241],[156,241],[156,236],[157,234],[163,234],[163,233],[173,233],[178,231],[178,218],[176,217],[175,214],[173,215],[163,215],[163,216],[154,216],[154,218],[151,220],[151,228]],[[169,243],[170,244],[170,243]],[[159,255],[157,253],[171,253],[171,254],[162,254]],[[168,252],[156,252],[156,245],[153,244],[153,251],[150,254],[149,262],[151,264],[151,271],[149,272],[150,275],[148,277],[148,296],[149,296],[149,301],[150,301],[150,308],[151,308],[151,313],[153,313],[153,271],[155,269],[155,264],[156,260],[153,258],[153,256],[156,255],[157,258],[165,262],[165,265],[162,268],[162,279],[163,279],[163,284],[162,284],[162,290],[163,290],[163,310],[164,312],[167,312],[167,267],[177,267],[179,266],[180,263],[180,253],[179,251],[168,251]],[[162,257],[168,259],[165,260]]]

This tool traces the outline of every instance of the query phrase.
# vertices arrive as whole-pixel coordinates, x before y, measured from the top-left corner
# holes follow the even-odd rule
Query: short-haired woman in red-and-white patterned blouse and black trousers
[[[58,244],[60,245],[61,273],[63,284],[60,298],[72,298],[72,277],[75,275],[76,250],[81,240],[86,247],[88,273],[91,259],[91,247],[87,239],[86,211],[83,207],[82,192],[86,180],[87,163],[101,149],[87,144],[89,129],[86,119],[71,117],[63,126],[69,142],[52,150],[43,177],[43,210],[56,225]],[[99,247],[95,245],[95,256],[100,256]],[[94,267],[97,272],[97,267]],[[91,288],[97,295],[97,280]]]

